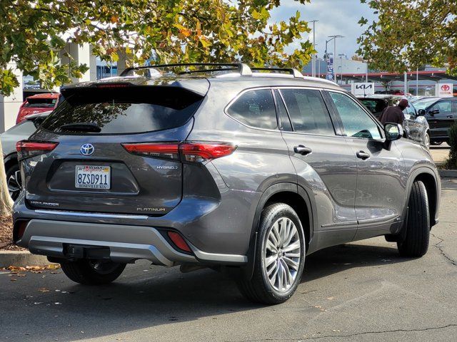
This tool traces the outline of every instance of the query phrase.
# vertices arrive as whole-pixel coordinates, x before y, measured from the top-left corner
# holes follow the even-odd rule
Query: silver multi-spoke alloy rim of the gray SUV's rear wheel
[[[263,271],[273,289],[288,291],[296,281],[300,262],[298,229],[291,219],[281,217],[269,229],[263,247]]]

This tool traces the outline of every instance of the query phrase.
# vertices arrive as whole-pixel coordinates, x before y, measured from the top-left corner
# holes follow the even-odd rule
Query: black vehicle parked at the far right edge
[[[414,106],[425,112],[430,125],[431,144],[448,142],[448,130],[457,120],[457,98],[422,98],[414,102]]]

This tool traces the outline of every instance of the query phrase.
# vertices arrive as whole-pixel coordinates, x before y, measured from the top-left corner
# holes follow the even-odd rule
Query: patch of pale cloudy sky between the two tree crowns
[[[281,20],[288,21],[296,11],[300,11],[301,19],[306,21],[318,20],[316,23],[316,51],[318,56],[323,57],[328,36],[340,34],[344,38],[338,38],[336,53],[345,53],[348,58],[356,54],[358,44],[356,39],[363,32],[363,27],[357,24],[363,16],[371,23],[375,19],[373,10],[368,4],[361,4],[360,0],[311,0],[311,4],[302,5],[298,1],[282,0],[281,6],[271,11],[270,22]],[[312,23],[309,26],[312,30]],[[307,35],[304,38],[308,38]],[[309,41],[313,41],[313,32],[309,33]],[[299,47],[298,43],[293,48]],[[333,41],[328,43],[329,52],[333,52]],[[290,51],[288,51],[290,52]]]

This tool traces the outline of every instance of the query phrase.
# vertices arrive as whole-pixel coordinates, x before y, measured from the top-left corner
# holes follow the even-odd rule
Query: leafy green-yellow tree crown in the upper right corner
[[[366,3],[366,0],[361,0]],[[375,68],[403,72],[424,65],[457,73],[457,2],[371,0],[378,19],[358,38],[357,53]],[[363,17],[361,26],[368,24]]]

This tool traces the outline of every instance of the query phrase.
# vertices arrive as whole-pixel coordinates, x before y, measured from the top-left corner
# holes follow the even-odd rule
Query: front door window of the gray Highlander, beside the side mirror
[[[348,137],[381,139],[378,125],[348,95],[329,92]]]

